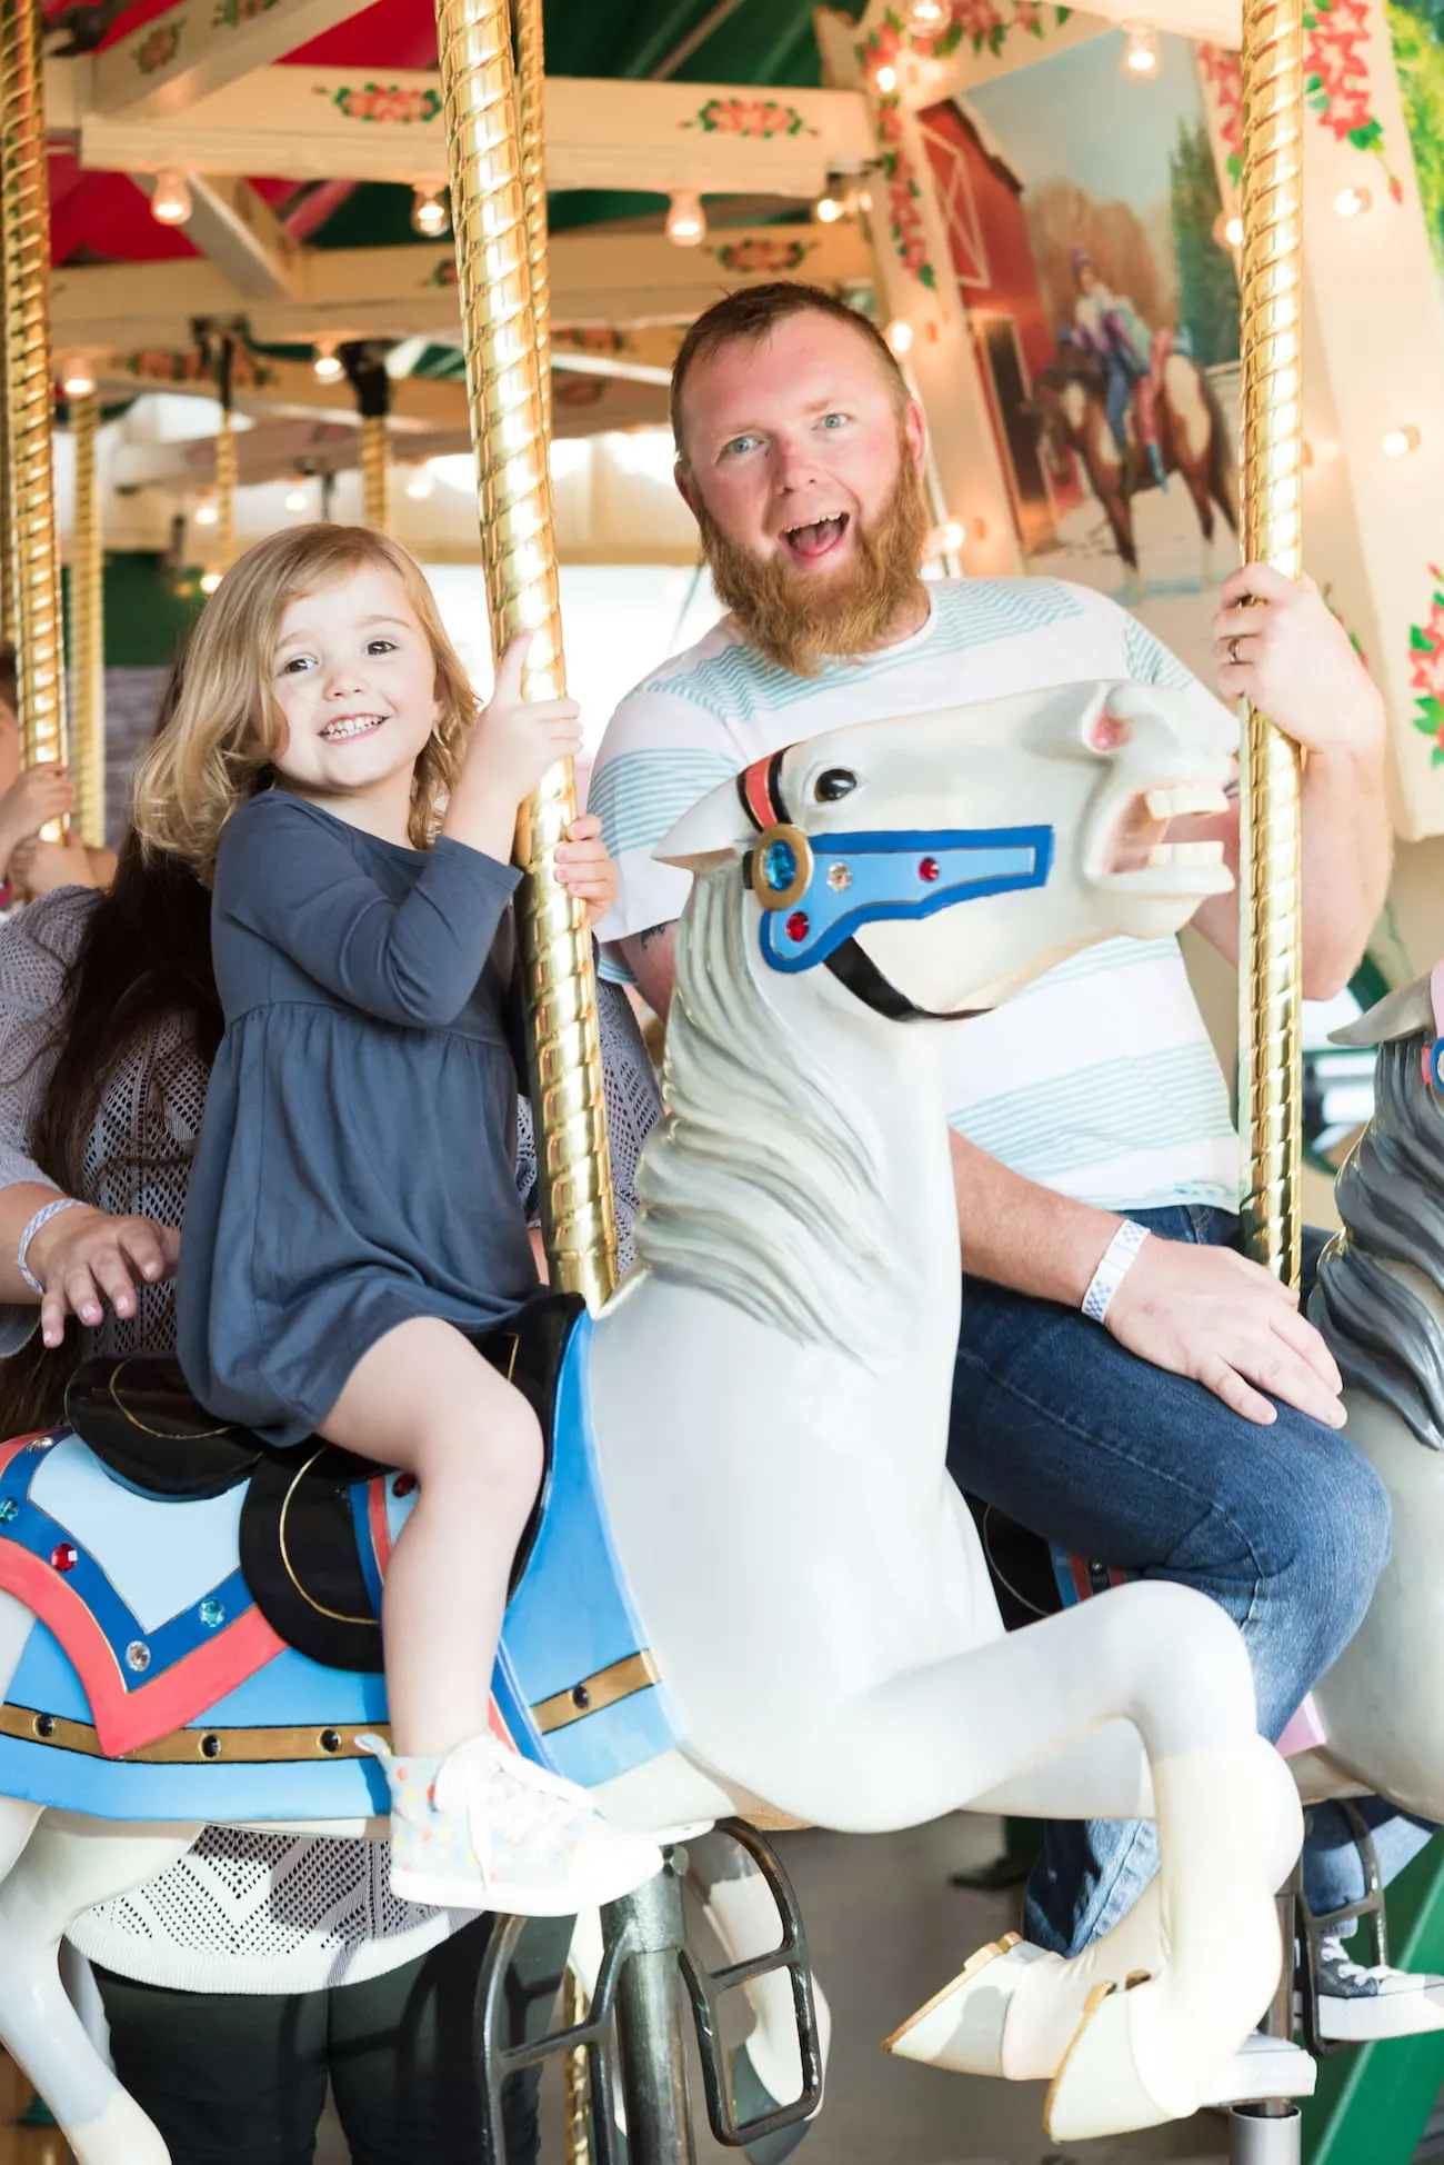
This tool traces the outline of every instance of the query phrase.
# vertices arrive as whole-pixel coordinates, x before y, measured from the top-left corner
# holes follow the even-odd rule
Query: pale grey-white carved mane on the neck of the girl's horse
[[[881,1139],[753,983],[736,870],[693,881],[662,1098],[667,1126],[636,1173],[636,1260],[881,1366],[901,1327]]]

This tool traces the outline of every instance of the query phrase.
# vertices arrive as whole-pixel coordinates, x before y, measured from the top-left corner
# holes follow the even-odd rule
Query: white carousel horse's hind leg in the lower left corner
[[[184,1858],[197,1834],[48,1812],[0,1886],[0,2037],[61,2122],[78,2165],[167,2165],[169,2152],[65,1996],[61,1938],[82,1910]]]

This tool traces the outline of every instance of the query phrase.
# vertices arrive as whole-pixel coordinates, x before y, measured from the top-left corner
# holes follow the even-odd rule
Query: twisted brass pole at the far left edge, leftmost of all
[[[30,766],[37,760],[65,760],[39,0],[0,0],[0,251],[19,745]]]

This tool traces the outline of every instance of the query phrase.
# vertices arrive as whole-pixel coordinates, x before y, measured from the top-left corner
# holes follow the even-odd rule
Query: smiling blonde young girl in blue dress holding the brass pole
[[[197,624],[136,825],[214,879],[225,1039],[182,1234],[182,1366],[273,1444],[320,1433],[418,1477],[383,1615],[392,1888],[554,1916],[660,1858],[487,1728],[541,1479],[530,1407],[465,1336],[535,1290],[511,1176],[509,855],[517,805],[580,740],[574,701],[528,706],[520,684],[517,643],[476,714],[392,541],[273,535]],[[559,872],[604,903],[611,866],[576,836]]]

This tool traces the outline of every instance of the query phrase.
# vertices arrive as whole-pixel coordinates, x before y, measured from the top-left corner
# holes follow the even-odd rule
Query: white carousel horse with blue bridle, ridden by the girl
[[[494,1684],[522,1749],[660,1838],[760,1803],[853,1832],[963,1806],[1154,1814],[1158,1879],[1113,1933],[1076,1961],[983,1951],[892,2039],[1050,2076],[1054,2139],[1191,2113],[1217,2083],[1277,1979],[1299,1806],[1206,1598],[1134,1585],[1002,1635],[944,1468],[937,1022],[1219,892],[1208,849],[1119,855],[1139,821],[1208,808],[1228,758],[1176,693],[1063,686],[814,738],[680,821],[658,855],[697,879],[639,1267],[567,1338]],[[128,1390],[113,1368],[134,1464],[65,1433],[0,1448],[0,2042],[80,2165],[165,2150],[61,1996],[71,1918],[201,1821],[362,1834],[385,1797],[355,1747],[383,1717],[375,1661],[288,1648],[258,1606],[264,1559],[238,1570],[264,1468],[158,1503],[165,1422]],[[271,1477],[301,1593],[294,1464]],[[372,1596],[403,1487],[353,1468],[338,1492]],[[310,1606],[362,1630],[340,1596]]]

